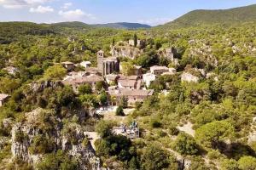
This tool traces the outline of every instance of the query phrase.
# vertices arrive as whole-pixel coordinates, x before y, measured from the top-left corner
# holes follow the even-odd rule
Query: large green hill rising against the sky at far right
[[[163,26],[180,28],[203,24],[240,24],[251,21],[256,21],[256,4],[230,9],[194,10]]]

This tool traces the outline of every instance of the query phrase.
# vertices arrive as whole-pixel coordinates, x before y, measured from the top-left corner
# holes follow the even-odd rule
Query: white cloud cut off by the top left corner
[[[3,6],[3,8],[23,8],[49,1],[51,0],[0,0],[0,6]]]

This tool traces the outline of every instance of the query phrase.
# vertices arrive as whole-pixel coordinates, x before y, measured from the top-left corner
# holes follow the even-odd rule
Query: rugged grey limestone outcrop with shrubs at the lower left
[[[32,152],[33,139],[38,135],[49,136],[52,143],[52,152],[63,150],[67,155],[79,161],[81,170],[100,170],[100,160],[96,157],[90,141],[86,141],[83,128],[77,123],[63,125],[60,119],[49,116],[46,122],[42,122],[43,109],[37,109],[26,113],[23,121],[15,123],[11,130],[11,152],[13,158],[18,157],[35,166],[44,158],[44,154]],[[47,114],[49,114],[47,112]],[[49,123],[49,124],[47,124]],[[73,142],[75,141],[75,142]]]

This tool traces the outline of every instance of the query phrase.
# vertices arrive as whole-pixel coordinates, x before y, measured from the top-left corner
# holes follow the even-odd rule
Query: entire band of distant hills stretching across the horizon
[[[172,22],[166,23],[162,26],[155,26],[154,28],[183,28],[189,26],[201,26],[201,25],[212,25],[212,24],[241,24],[244,22],[256,22],[256,4],[249,5],[246,7],[230,8],[230,9],[219,9],[219,10],[205,10],[199,9],[184,14],[183,16],[173,20]],[[73,22],[59,22],[52,24],[36,24],[32,22],[0,22],[2,30],[8,30],[10,27],[16,31],[23,33],[32,34],[45,34],[49,32],[58,32],[62,30],[90,30],[94,28],[113,28],[113,29],[148,29],[151,26],[140,24],[140,23],[129,23],[129,22],[117,22],[108,24],[95,24],[89,25],[79,21]],[[24,29],[26,28],[26,29]],[[0,36],[1,37],[1,36]]]

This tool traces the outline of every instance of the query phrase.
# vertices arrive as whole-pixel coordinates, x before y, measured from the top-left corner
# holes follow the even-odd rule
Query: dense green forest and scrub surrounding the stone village
[[[71,156],[56,139],[60,135],[67,145],[90,145],[79,129],[99,134],[95,145],[102,167],[178,169],[185,161],[193,170],[256,169],[256,141],[251,138],[256,128],[254,8],[236,8],[229,14],[195,11],[171,24],[140,30],[79,22],[0,23],[0,94],[10,95],[0,107],[0,169],[80,169],[83,159]],[[230,16],[236,13],[239,17],[234,20],[239,22],[229,25]],[[192,20],[199,25],[190,25]],[[149,87],[154,95],[125,116],[127,122],[136,120],[141,128],[141,138],[131,140],[112,132],[119,122],[89,116],[99,105],[108,105],[105,84],[97,83],[96,92],[84,85],[74,93],[60,82],[67,70],[59,63],[90,60],[95,66],[98,50],[110,56],[111,46],[135,35],[146,43],[136,59],[122,59],[127,65],[142,65],[143,71],[166,65],[175,67],[177,74],[158,77]],[[160,54],[170,47],[176,49],[179,65]],[[8,66],[19,71],[9,74]],[[183,72],[199,77],[199,82],[182,82]],[[118,116],[124,115],[126,106],[124,99]],[[24,133],[20,124],[31,132]],[[38,135],[31,137],[32,132]],[[11,148],[17,144],[30,144],[29,153],[44,159],[33,165],[31,160],[13,158]]]

